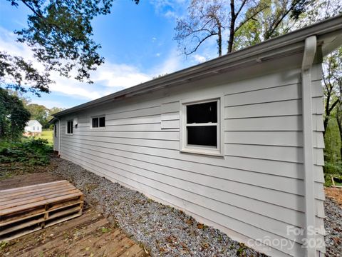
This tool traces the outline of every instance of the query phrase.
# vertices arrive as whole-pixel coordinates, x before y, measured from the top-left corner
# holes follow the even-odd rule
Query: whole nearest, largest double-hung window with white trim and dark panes
[[[182,151],[222,155],[220,99],[182,104]]]

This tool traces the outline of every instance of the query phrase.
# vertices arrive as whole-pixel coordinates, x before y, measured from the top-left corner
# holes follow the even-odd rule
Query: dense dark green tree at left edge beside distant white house
[[[30,113],[17,97],[0,88],[0,139],[16,140],[24,132]]]

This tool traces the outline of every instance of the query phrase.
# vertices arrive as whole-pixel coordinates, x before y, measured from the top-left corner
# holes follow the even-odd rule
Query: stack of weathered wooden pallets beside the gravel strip
[[[0,242],[82,215],[83,193],[68,181],[0,191]]]

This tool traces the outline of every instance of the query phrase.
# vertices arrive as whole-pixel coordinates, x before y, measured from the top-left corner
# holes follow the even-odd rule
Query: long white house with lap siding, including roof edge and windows
[[[321,62],[341,44],[338,16],[61,111],[55,150],[263,253],[322,256]]]

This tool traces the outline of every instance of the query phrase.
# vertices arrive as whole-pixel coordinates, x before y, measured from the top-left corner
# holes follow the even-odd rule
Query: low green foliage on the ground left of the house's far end
[[[19,142],[0,143],[0,163],[19,162],[30,166],[46,165],[53,147],[47,140],[38,138],[24,139]]]

